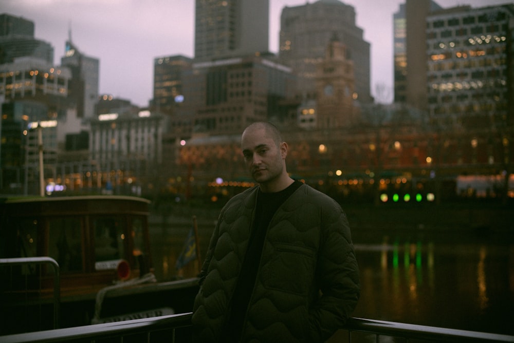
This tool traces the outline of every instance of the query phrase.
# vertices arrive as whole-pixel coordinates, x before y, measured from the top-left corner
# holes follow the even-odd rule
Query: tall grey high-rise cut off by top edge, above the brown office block
[[[269,0],[196,0],[197,61],[267,52],[268,32]]]

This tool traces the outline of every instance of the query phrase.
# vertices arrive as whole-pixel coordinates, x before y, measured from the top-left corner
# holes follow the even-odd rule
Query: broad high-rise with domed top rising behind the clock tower
[[[346,46],[346,59],[355,70],[355,92],[361,102],[371,101],[370,43],[355,22],[355,9],[339,0],[318,0],[295,7],[284,7],[280,18],[279,60],[298,75],[298,92],[315,97],[316,65],[337,34]]]

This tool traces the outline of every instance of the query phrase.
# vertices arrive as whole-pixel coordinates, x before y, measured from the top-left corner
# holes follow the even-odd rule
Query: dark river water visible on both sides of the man
[[[191,223],[151,225],[160,280],[192,277],[199,262],[177,271]],[[200,258],[214,221],[198,225]],[[509,235],[508,237],[511,237]],[[353,231],[361,277],[354,317],[514,335],[514,242],[474,231]]]

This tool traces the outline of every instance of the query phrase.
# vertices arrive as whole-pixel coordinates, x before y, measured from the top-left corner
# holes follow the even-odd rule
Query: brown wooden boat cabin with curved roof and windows
[[[63,300],[74,290],[85,295],[88,289],[96,292],[138,277],[152,268],[149,203],[127,196],[0,200],[0,258],[53,258],[60,267]],[[35,272],[21,266],[11,278]],[[50,268],[37,272],[38,282],[51,280],[45,277]]]

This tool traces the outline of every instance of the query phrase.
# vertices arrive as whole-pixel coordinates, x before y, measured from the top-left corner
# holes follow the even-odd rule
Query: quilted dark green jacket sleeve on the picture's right
[[[350,225],[338,204],[321,213],[316,278],[321,296],[309,313],[311,341],[325,341],[351,317],[360,295]],[[329,206],[330,207],[330,206]]]

